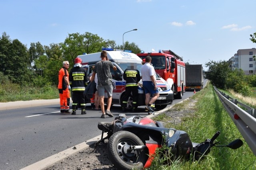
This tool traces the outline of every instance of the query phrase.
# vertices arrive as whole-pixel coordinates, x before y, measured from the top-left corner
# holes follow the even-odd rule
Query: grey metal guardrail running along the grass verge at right
[[[232,121],[234,121],[237,129],[256,156],[256,109],[227,96],[220,92],[215,86],[214,90],[218,94],[220,101],[226,108]],[[241,109],[237,104],[244,107],[246,110]]]

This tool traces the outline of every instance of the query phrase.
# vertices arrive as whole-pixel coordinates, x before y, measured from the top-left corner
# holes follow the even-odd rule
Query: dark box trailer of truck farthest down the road
[[[204,85],[202,64],[186,64],[186,91],[200,91]]]

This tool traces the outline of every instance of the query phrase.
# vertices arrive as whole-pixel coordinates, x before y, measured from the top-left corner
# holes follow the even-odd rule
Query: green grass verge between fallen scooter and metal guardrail
[[[221,144],[228,144],[234,139],[241,139],[244,145],[237,150],[229,148],[214,147],[205,159],[193,162],[189,161],[174,161],[174,164],[166,165],[162,158],[157,157],[150,169],[182,169],[182,170],[241,170],[241,169],[256,169],[256,157],[252,153],[250,147],[244,141],[242,135],[230,119],[228,113],[222,106],[217,94],[215,94],[212,86],[208,86],[197,92],[192,98],[196,100],[196,104],[190,107],[189,102],[184,102],[175,105],[167,112],[176,111],[176,107],[182,111],[189,108],[190,113],[182,119],[180,124],[170,124],[170,121],[165,123],[166,127],[183,130],[188,133],[191,141],[201,143],[205,139],[210,139],[216,131],[220,131],[220,136],[216,141]],[[188,100],[189,101],[189,100]],[[167,114],[165,113],[165,116]],[[163,121],[163,115],[160,115]],[[157,118],[156,118],[157,119]],[[168,117],[166,118],[169,119]]]

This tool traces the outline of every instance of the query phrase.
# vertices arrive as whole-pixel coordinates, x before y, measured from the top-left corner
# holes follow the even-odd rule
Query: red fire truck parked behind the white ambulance
[[[137,54],[141,59],[150,56],[156,72],[170,85],[174,98],[181,99],[186,87],[186,71],[183,59],[171,50],[159,50],[158,53]]]

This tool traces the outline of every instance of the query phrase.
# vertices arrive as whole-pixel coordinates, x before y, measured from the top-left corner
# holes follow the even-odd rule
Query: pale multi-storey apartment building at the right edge
[[[245,75],[256,74],[256,49],[239,49],[229,59],[232,70],[241,68]]]

